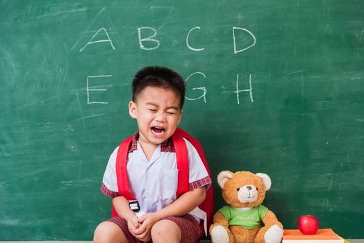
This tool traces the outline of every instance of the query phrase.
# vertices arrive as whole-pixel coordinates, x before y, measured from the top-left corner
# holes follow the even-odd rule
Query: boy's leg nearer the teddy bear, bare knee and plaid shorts
[[[151,239],[156,242],[198,242],[202,235],[199,223],[191,215],[167,217],[158,221],[151,229]]]

